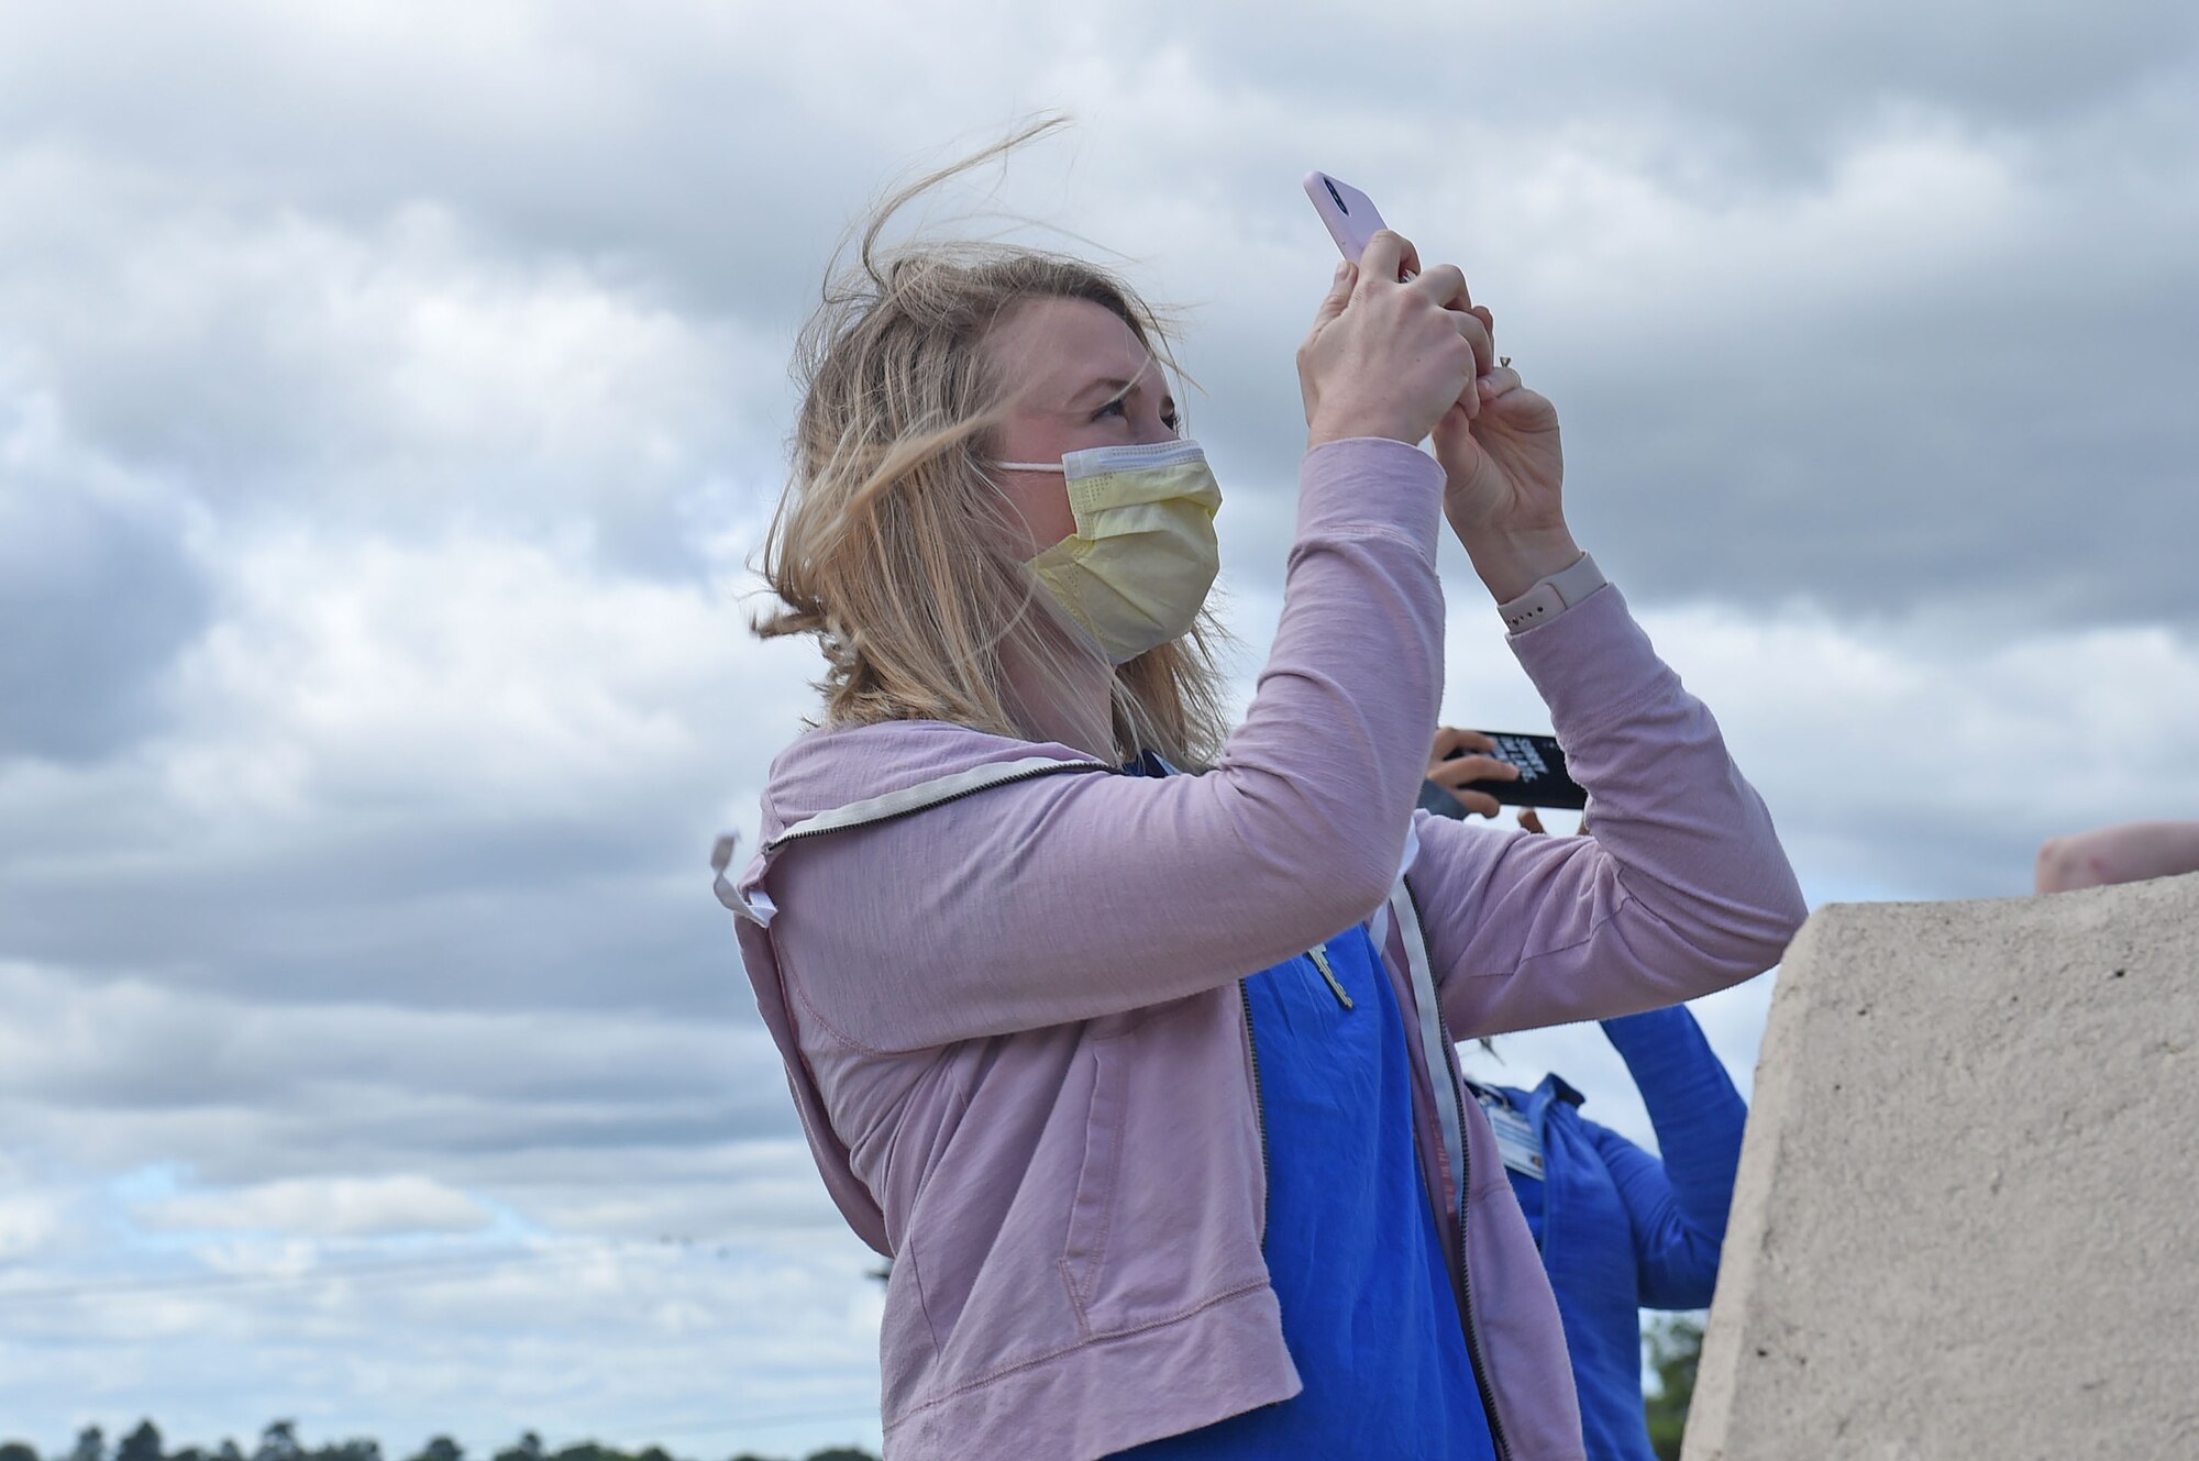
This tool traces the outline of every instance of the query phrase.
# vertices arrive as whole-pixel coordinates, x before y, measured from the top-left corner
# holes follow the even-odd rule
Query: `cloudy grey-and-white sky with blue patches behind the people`
[[[1240,684],[1324,167],[1559,403],[1812,902],[2195,814],[2199,11],[1436,11],[0,0],[0,1439],[875,1446],[704,854],[809,706],[743,625],[820,271],[1040,110],[932,222],[1185,308]],[[1546,724],[1445,574],[1447,717]]]

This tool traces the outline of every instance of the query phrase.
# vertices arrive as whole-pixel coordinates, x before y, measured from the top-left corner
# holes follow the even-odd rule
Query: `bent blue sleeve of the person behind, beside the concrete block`
[[[1649,1107],[1665,1160],[1590,1127],[1634,1230],[1640,1303],[1700,1309],[1717,1287],[1748,1107],[1684,1008],[1603,1021]]]

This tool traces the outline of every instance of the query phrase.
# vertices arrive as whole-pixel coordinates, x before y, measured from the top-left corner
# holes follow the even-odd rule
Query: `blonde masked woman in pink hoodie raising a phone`
[[[759,631],[818,638],[822,713],[719,858],[818,1168],[893,1256],[888,1457],[1579,1457],[1449,1041],[1735,984],[1803,907],[1572,543],[1550,403],[1456,268],[1383,233],[1337,273],[1227,728],[1220,493],[1157,317],[1071,257],[884,251],[897,202],[805,334],[765,554]],[[1594,841],[1412,814],[1445,519]]]

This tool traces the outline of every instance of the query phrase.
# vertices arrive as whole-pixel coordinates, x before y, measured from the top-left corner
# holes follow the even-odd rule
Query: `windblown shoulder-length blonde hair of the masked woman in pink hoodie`
[[[983,343],[1025,301],[1089,299],[1174,367],[1159,315],[1075,257],[880,242],[926,189],[1056,125],[1025,128],[882,202],[855,266],[827,279],[800,334],[792,469],[759,563],[781,605],[754,629],[818,638],[827,726],[946,719],[1040,739],[1018,717],[1007,664],[1047,693],[1073,682],[1071,656],[1089,653],[1051,620],[1020,559],[1014,506],[985,471],[1014,383],[985,367]],[[1119,759],[1154,750],[1185,768],[1214,764],[1225,735],[1218,642],[1201,614],[1192,634],[1115,669]]]

